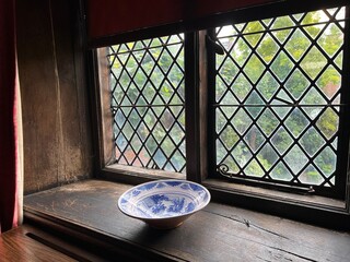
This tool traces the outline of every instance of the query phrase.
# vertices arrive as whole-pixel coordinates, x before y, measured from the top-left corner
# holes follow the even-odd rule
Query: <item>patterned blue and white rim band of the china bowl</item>
[[[139,187],[145,186],[145,184],[156,183],[156,182],[168,182],[168,181],[170,182],[187,182],[187,183],[191,183],[191,184],[198,186],[206,192],[206,194],[208,195],[208,199],[207,199],[206,202],[202,202],[200,205],[196,206],[196,209],[192,210],[191,212],[188,212],[188,213],[185,213],[185,214],[178,214],[178,215],[174,215],[174,216],[167,216],[167,217],[137,216],[137,215],[127,213],[126,211],[124,211],[121,209],[121,203],[120,203],[121,199],[122,199],[124,195],[126,195],[130,191],[132,191],[132,190],[135,190],[135,189],[137,189]],[[210,200],[211,200],[211,194],[210,194],[209,190],[205,186],[202,186],[200,183],[197,183],[197,182],[194,182],[194,181],[190,181],[190,180],[185,180],[185,179],[158,179],[158,180],[153,180],[153,181],[149,181],[149,182],[137,184],[137,186],[128,189],[127,191],[125,191],[122,194],[120,194],[120,196],[118,199],[118,209],[120,210],[121,213],[126,214],[127,216],[133,217],[133,218],[142,219],[142,221],[159,221],[159,219],[165,221],[165,219],[178,218],[178,217],[182,217],[182,216],[189,216],[189,215],[202,210],[203,207],[206,207],[209,204]]]

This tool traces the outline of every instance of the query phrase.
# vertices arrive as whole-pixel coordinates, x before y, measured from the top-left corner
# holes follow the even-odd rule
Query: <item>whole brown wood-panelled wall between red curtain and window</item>
[[[91,135],[77,1],[20,0],[16,10],[30,193],[90,177]]]

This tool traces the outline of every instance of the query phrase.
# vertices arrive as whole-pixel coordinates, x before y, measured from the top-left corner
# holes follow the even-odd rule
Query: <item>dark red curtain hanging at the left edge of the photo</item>
[[[18,224],[14,0],[0,0],[0,231]]]

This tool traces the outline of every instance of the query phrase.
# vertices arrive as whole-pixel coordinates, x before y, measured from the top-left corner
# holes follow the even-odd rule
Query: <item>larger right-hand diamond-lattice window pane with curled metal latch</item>
[[[218,27],[218,170],[335,187],[345,8]]]

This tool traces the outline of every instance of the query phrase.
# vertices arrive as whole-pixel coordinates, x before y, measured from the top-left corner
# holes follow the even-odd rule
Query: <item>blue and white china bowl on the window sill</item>
[[[120,195],[119,210],[152,227],[168,229],[183,222],[210,201],[209,191],[186,180],[156,180],[133,187]]]

